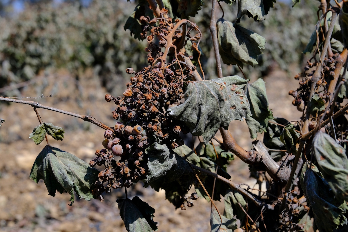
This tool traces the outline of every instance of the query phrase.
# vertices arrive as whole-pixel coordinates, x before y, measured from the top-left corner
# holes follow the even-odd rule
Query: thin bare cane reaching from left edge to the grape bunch
[[[72,112],[61,110],[61,109],[57,109],[57,108],[54,108],[54,107],[41,105],[40,103],[34,102],[34,101],[23,101],[23,100],[17,100],[17,99],[8,98],[8,97],[0,97],[0,101],[14,102],[14,103],[21,103],[21,104],[31,105],[32,107],[34,107],[35,112],[37,112],[36,111],[37,108],[45,109],[45,110],[52,110],[52,111],[55,111],[55,112],[58,112],[58,113],[67,114],[67,115],[70,115],[70,116],[73,116],[73,117],[76,117],[76,118],[80,118],[80,119],[82,119],[84,121],[87,121],[87,122],[91,122],[94,125],[96,125],[98,127],[101,127],[101,128],[103,128],[105,130],[113,131],[113,129],[111,129],[110,127],[106,126],[104,123],[98,121],[97,119],[95,119],[91,115],[82,115],[82,114],[72,113]],[[38,118],[39,118],[39,116],[38,116]],[[40,121],[40,119],[39,119],[39,121]]]

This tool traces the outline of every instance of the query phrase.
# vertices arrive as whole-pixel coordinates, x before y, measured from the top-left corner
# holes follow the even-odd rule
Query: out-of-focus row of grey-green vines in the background
[[[237,6],[221,4],[224,18],[233,21]],[[244,73],[254,72],[260,77],[274,67],[288,70],[290,64],[303,62],[301,51],[317,21],[313,12],[318,5],[317,1],[307,0],[292,9],[280,2],[264,22],[244,19],[240,25],[267,39],[264,54],[259,57],[260,65],[245,66]],[[27,4],[16,16],[0,17],[0,88],[59,68],[67,69],[78,79],[87,68],[92,68],[102,85],[116,94],[119,92],[117,83],[124,83],[128,76],[125,69],[140,70],[147,63],[146,41],[139,42],[123,28],[135,6],[136,2],[124,0],[94,0],[88,7],[73,1],[59,5],[43,1]],[[203,10],[191,20],[201,26],[204,34],[200,47],[206,77],[216,78],[212,39],[206,21],[210,18],[210,7],[210,1],[206,2]],[[224,74],[241,75],[234,66],[225,67]],[[11,97],[19,92],[11,90],[2,95]]]

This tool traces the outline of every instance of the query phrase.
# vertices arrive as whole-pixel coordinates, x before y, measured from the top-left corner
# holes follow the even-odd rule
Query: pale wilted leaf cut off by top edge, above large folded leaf
[[[238,15],[241,18],[243,15],[253,18],[255,21],[263,21],[275,0],[238,0]]]

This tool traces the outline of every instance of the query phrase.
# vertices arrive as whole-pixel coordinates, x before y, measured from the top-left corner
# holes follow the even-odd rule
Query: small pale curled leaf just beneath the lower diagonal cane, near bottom
[[[244,224],[246,215],[238,204],[240,203],[240,205],[242,205],[244,210],[247,210],[246,201],[243,195],[236,190],[230,189],[226,193],[223,203],[225,206],[224,215],[228,219],[232,219],[234,216],[236,216],[240,220],[240,222]]]

